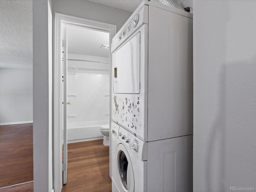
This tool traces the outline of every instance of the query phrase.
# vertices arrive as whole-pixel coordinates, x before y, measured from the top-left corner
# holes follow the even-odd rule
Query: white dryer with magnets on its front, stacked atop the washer
[[[112,40],[112,121],[143,141],[193,134],[192,24],[146,0]]]

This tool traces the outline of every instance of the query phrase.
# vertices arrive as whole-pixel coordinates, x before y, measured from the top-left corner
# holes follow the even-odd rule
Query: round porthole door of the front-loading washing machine
[[[128,151],[123,144],[118,144],[116,148],[118,188],[124,192],[134,192],[134,173],[132,162]]]

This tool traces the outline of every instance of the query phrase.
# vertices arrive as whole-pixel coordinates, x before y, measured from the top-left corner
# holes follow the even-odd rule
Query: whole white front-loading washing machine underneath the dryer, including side
[[[112,122],[112,192],[191,192],[193,136],[143,142]]]

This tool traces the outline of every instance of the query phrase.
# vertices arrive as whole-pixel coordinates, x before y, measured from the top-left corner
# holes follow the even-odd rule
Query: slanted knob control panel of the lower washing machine
[[[140,140],[128,130],[119,126],[118,129],[118,140],[120,140],[124,146],[126,146],[127,150],[131,150],[136,156],[140,158],[140,160],[146,160],[147,154],[147,143]]]

